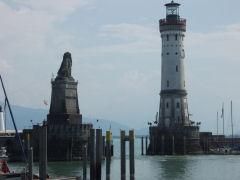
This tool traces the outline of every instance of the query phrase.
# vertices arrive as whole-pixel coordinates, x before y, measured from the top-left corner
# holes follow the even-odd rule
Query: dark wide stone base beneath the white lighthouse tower
[[[149,134],[148,155],[203,154],[199,126],[151,126]]]

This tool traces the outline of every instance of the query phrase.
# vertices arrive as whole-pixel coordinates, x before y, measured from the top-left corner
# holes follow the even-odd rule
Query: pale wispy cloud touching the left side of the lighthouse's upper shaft
[[[161,49],[159,32],[143,25],[106,24],[100,27],[98,37],[102,44],[82,48],[79,56],[97,56],[105,53],[160,53]]]

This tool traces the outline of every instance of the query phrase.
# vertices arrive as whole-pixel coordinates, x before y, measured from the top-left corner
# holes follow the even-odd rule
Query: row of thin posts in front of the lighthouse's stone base
[[[148,151],[148,137],[145,137],[145,155],[156,155],[158,154],[156,150],[157,138],[151,136],[151,151]],[[165,136],[161,136],[161,152],[160,154],[165,154]],[[144,137],[141,137],[141,154],[144,155]],[[172,154],[175,154],[175,137],[172,136]],[[183,154],[186,154],[186,136],[183,136]]]

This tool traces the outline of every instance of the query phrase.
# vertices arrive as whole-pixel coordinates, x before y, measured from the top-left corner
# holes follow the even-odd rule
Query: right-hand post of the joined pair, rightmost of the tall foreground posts
[[[134,130],[129,131],[129,168],[130,168],[130,180],[135,179],[135,159],[134,159]]]

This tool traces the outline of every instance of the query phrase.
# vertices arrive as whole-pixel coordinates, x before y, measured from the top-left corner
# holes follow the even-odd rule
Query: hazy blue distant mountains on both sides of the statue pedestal
[[[0,102],[2,107],[4,104]],[[18,129],[27,129],[31,128],[33,124],[42,123],[43,120],[47,118],[48,110],[45,109],[33,109],[33,108],[25,108],[21,106],[11,105],[12,112],[16,121],[16,125]],[[98,119],[98,118],[88,118],[83,116],[83,123],[92,123],[94,128],[102,128],[103,133],[105,131],[112,131],[113,136],[120,135],[120,129],[128,131],[132,129],[127,125],[120,124],[118,122]],[[13,123],[10,117],[9,111],[7,111],[7,129],[14,129]],[[148,135],[148,128],[142,128],[139,130],[135,130],[136,135]]]

